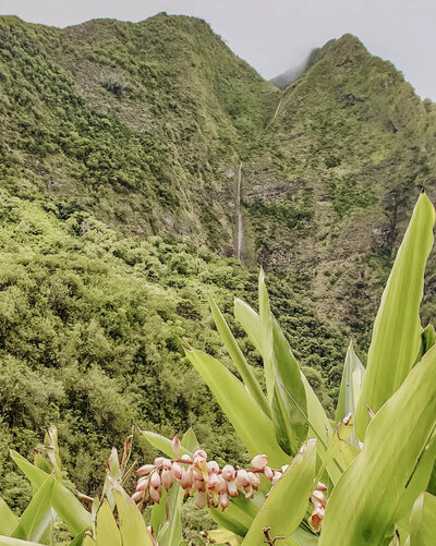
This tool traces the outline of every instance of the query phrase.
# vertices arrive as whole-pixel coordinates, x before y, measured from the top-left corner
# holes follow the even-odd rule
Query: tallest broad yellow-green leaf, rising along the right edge
[[[382,296],[374,323],[366,374],[355,414],[363,440],[370,422],[366,404],[377,412],[401,386],[420,351],[420,304],[424,269],[433,245],[435,210],[422,193]]]

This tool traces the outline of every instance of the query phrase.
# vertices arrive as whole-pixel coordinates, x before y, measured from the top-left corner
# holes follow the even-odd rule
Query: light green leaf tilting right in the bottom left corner
[[[20,523],[12,533],[14,538],[40,542],[47,530],[53,523],[53,512],[51,510],[51,493],[55,485],[55,476],[47,476],[36,492],[35,496],[24,510]]]

